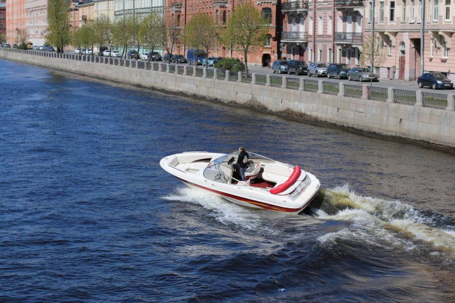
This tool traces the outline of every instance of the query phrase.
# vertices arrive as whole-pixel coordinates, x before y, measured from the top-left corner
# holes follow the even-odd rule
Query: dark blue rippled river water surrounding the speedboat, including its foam
[[[159,167],[239,145],[315,174],[299,215]],[[1,302],[454,302],[455,156],[0,60]]]

